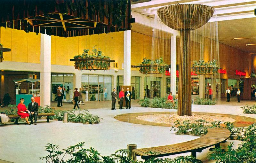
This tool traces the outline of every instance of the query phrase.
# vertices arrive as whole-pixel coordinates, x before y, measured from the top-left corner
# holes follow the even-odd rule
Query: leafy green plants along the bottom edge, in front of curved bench
[[[156,159],[150,157],[147,161],[133,161],[127,149],[117,150],[115,154],[110,156],[101,156],[99,151],[90,147],[84,148],[84,142],[69,146],[67,149],[59,151],[59,146],[54,144],[46,144],[44,151],[48,152],[46,156],[40,157],[40,160],[46,163],[198,163],[200,162],[193,156],[178,156],[174,159],[164,158]],[[156,152],[149,151],[148,154],[156,154]],[[69,155],[70,159],[64,160],[65,156]]]

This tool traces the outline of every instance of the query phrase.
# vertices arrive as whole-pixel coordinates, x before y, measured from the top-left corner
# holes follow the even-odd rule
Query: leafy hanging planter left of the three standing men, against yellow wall
[[[92,47],[92,52],[89,49],[84,49],[83,54],[74,56],[74,59],[69,59],[70,61],[75,61],[75,69],[78,70],[109,70],[110,62],[115,62],[115,60],[110,60],[109,57],[103,56],[100,49],[95,49]]]

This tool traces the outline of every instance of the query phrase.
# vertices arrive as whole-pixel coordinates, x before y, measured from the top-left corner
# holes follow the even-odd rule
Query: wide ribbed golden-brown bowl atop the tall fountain
[[[212,17],[214,9],[203,4],[174,4],[157,10],[159,18],[175,30],[194,30]]]

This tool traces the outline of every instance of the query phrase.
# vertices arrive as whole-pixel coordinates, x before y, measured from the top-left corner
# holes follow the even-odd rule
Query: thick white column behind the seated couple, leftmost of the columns
[[[41,34],[40,105],[51,106],[51,36]]]

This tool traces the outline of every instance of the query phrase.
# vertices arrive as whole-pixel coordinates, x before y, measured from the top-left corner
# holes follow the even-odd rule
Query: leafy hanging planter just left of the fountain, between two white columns
[[[163,58],[156,59],[155,61],[147,58],[143,58],[139,66],[141,74],[163,74],[168,65],[164,64]]]

